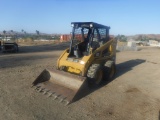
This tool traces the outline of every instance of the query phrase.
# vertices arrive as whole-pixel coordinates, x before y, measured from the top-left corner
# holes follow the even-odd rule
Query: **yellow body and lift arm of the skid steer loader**
[[[57,68],[61,69],[62,67],[65,68],[64,70],[66,72],[70,72],[73,74],[86,76],[87,70],[89,66],[93,63],[103,63],[106,62],[109,59],[113,59],[116,56],[116,40],[112,39],[106,42],[102,47],[99,47],[96,49],[92,54],[88,56],[84,56],[81,59],[72,59],[69,60],[69,49],[66,49],[62,55],[57,60]],[[109,55],[103,56],[102,52],[108,48]],[[92,50],[90,50],[92,52]]]

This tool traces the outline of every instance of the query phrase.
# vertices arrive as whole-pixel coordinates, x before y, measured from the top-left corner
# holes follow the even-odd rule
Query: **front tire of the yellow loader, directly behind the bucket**
[[[103,67],[100,64],[92,64],[87,72],[90,86],[99,86],[103,81]]]

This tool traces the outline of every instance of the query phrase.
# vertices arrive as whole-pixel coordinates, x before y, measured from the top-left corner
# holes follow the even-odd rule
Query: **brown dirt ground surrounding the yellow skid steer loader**
[[[1,120],[160,120],[160,48],[117,52],[114,80],[64,106],[31,84],[67,46],[23,45],[19,53],[0,53]]]

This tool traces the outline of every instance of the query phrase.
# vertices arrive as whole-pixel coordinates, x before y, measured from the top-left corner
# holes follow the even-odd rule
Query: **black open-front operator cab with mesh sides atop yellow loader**
[[[72,37],[68,57],[82,58],[109,40],[110,27],[94,22],[72,22]]]

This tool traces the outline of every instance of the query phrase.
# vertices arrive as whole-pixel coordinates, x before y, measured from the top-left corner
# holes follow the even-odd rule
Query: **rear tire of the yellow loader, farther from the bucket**
[[[105,69],[104,69],[104,80],[109,81],[112,80],[115,73],[116,73],[116,66],[115,63],[113,61],[107,61],[104,65]]]

